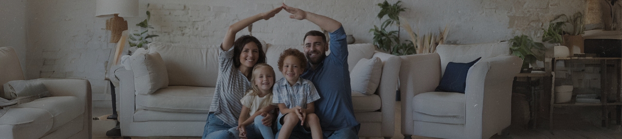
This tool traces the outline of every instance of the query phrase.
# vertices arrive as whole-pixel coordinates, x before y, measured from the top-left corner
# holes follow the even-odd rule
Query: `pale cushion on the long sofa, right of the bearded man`
[[[380,58],[361,59],[350,72],[350,86],[352,91],[357,91],[365,95],[374,94],[376,88],[378,88],[382,74],[383,62]]]

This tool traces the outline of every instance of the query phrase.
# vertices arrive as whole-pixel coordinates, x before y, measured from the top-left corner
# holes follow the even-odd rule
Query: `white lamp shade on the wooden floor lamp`
[[[138,0],[97,0],[96,17],[119,14],[119,17],[137,17]]]

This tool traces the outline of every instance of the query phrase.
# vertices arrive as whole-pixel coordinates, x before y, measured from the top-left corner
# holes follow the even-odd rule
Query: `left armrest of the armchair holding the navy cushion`
[[[434,91],[440,83],[440,56],[432,54],[413,54],[400,56],[399,90],[402,105],[402,134],[412,135],[412,97]]]

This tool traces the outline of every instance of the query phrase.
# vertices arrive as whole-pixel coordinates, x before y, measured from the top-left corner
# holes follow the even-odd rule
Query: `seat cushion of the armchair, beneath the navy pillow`
[[[412,99],[413,120],[444,124],[465,123],[465,94],[427,92]]]

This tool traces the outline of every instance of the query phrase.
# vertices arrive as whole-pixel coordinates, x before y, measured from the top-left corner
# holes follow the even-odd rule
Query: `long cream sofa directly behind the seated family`
[[[264,45],[266,46],[266,45]],[[117,70],[121,87],[121,134],[126,137],[201,137],[218,77],[217,45],[151,43],[148,53],[157,52],[164,60],[169,84],[150,95],[136,94],[132,70]],[[267,64],[276,70],[279,54],[302,46],[267,44]],[[362,58],[379,57],[383,72],[374,95],[353,93],[360,137],[388,137],[394,134],[394,105],[397,74],[401,59],[374,51],[372,44],[348,45],[350,70]]]

